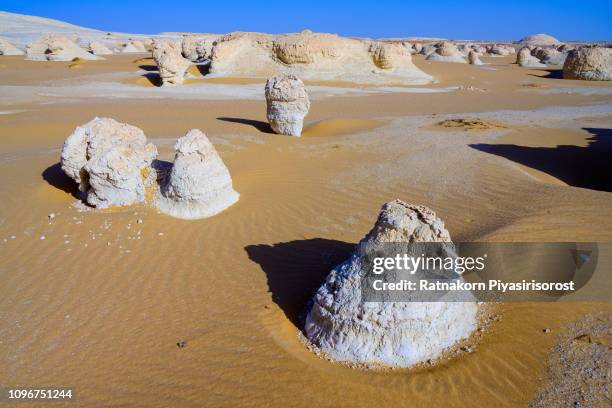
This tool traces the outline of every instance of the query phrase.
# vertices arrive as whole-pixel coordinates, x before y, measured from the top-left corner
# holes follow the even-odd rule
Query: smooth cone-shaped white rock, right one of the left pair
[[[192,129],[174,148],[172,170],[156,198],[161,212],[184,219],[206,218],[238,201],[229,171],[204,133]]]

